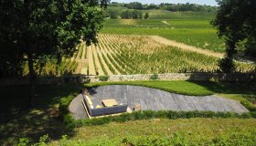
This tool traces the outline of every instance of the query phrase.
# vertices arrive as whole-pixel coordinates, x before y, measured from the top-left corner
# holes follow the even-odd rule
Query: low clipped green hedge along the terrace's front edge
[[[213,112],[213,111],[172,111],[172,110],[144,110],[144,111],[135,111],[133,113],[123,113],[120,116],[116,117],[104,117],[99,119],[92,120],[72,120],[72,124],[69,125],[75,127],[81,126],[94,126],[94,125],[103,125],[110,122],[124,122],[128,120],[149,120],[155,118],[167,118],[171,120],[176,119],[190,119],[190,118],[242,118],[250,119],[256,118],[256,112],[247,112],[247,113],[234,113],[234,112]],[[67,123],[65,123],[67,124]]]

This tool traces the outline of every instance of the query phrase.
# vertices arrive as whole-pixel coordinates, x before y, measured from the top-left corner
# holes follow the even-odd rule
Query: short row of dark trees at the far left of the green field
[[[141,11],[138,10],[123,10],[123,11],[118,11],[116,9],[108,9],[105,12],[105,17],[110,17],[112,19],[116,19],[119,16],[123,19],[148,19],[149,18],[149,14],[146,12],[145,14],[143,14]]]

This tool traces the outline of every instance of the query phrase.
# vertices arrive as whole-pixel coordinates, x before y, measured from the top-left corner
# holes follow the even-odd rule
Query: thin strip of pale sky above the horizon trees
[[[199,5],[217,5],[215,0],[111,0],[111,2],[118,3],[130,3],[130,2],[140,2],[142,4],[160,4],[160,3],[169,3],[169,4],[199,4]]]

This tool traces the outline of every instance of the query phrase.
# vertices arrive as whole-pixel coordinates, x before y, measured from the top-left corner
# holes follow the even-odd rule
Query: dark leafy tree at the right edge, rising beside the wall
[[[227,66],[225,70],[230,72],[238,43],[245,41],[245,47],[256,47],[256,1],[218,0],[218,3],[219,10],[211,24],[218,29],[219,37],[225,39],[226,58],[220,61],[220,66]]]

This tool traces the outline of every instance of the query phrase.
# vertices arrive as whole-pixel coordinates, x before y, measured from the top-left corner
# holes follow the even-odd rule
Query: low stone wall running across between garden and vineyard
[[[108,81],[135,81],[135,80],[153,80],[153,74],[145,75],[112,75]],[[242,73],[170,73],[158,74],[157,80],[219,80],[219,81],[256,81],[256,74]],[[88,83],[101,82],[99,76],[65,76],[59,78],[37,78],[37,84],[50,85],[62,83]],[[28,78],[0,78],[0,86],[5,85],[28,85]]]

